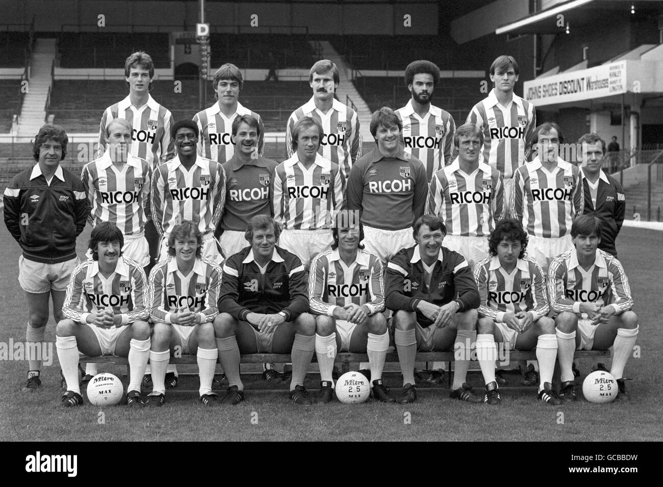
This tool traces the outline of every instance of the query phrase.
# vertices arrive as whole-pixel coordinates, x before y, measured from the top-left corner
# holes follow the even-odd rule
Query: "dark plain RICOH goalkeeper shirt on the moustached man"
[[[260,157],[245,164],[235,155],[221,166],[225,174],[221,229],[243,232],[247,229],[247,222],[256,215],[274,215],[272,182],[275,161]]]

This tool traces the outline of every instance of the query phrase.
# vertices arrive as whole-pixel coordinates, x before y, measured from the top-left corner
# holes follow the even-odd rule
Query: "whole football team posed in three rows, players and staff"
[[[575,350],[613,347],[617,399],[629,399],[638,319],[615,248],[623,189],[601,170],[600,136],[575,142],[578,160],[560,157],[560,127],[536,125],[514,94],[514,58],[493,62],[493,89],[459,127],[431,103],[438,67],[410,63],[410,101],[373,113],[375,148],[363,155],[357,113],[335,97],[337,66],[320,60],[280,164],[263,157],[263,121],[239,103],[236,66],[215,73],[217,102],[176,122],[151,97],[153,76],[145,52],[127,58],[129,95],[103,113],[97,159],[80,178],[60,166],[64,129],[47,124],[36,164],[5,189],[5,223],[23,250],[26,341],[44,341],[52,299],[63,406],[83,404],[80,387],[97,373],[79,368],[81,354],[128,357],[127,404],[159,407],[177,384],[174,351],[196,355],[200,402],[212,406],[244,400],[241,354],[290,354],[287,371],[264,364],[263,377],[287,374],[290,400],[312,404],[334,398],[337,351],[362,352],[371,397],[407,404],[416,352],[448,350],[450,396],[495,405],[496,343],[536,349],[523,383],[554,405],[577,398]],[[398,394],[382,381],[390,343]],[[481,393],[466,382],[473,352]],[[304,388],[314,354],[315,397]],[[29,356],[25,391],[40,388],[39,358]],[[217,360],[228,382],[220,400]],[[443,365],[429,380],[441,382]]]

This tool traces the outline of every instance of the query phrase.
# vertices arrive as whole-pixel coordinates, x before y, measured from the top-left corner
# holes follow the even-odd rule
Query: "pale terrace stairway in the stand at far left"
[[[51,86],[51,66],[55,60],[56,40],[39,38],[34,42],[28,92],[23,98],[18,135],[34,136],[46,119],[46,99]]]

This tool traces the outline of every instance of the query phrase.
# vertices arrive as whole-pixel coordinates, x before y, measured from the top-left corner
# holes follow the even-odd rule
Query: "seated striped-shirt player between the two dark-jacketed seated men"
[[[382,262],[363,250],[363,225],[354,213],[341,212],[331,229],[331,250],[311,264],[308,299],[316,316],[316,355],[320,366],[318,402],[333,400],[333,362],[337,350],[367,353],[371,396],[395,402],[382,383],[389,333],[385,310]],[[347,217],[346,217],[347,216]],[[353,221],[355,220],[355,221]]]

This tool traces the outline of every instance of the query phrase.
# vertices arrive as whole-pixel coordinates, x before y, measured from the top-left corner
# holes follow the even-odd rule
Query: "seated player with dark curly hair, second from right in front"
[[[474,266],[481,305],[477,325],[477,356],[497,359],[495,342],[509,350],[531,350],[536,343],[541,383],[538,398],[556,406],[562,400],[552,387],[557,357],[555,322],[548,318],[546,280],[541,267],[526,258],[527,234],[520,222],[505,219],[488,237],[489,256]],[[495,368],[479,362],[486,380],[488,404],[499,404]],[[487,364],[484,368],[484,365]]]

